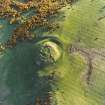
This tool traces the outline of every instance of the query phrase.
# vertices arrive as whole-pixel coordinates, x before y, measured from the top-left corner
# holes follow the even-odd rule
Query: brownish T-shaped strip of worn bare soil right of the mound
[[[69,48],[70,53],[78,52],[83,57],[85,57],[86,64],[87,64],[87,70],[85,71],[85,80],[86,83],[89,85],[91,80],[92,72],[95,68],[95,64],[93,63],[95,61],[95,58],[97,56],[101,56],[103,59],[105,59],[105,49],[104,48],[81,48],[77,44],[72,44]]]

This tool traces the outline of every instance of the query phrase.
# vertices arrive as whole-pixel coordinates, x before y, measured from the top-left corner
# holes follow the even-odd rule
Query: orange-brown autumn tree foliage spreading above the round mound
[[[31,7],[35,9],[37,13],[35,13],[35,16],[32,16],[13,31],[10,39],[5,43],[5,47],[13,47],[19,40],[33,39],[33,36],[30,32],[33,27],[40,28],[43,26],[48,26],[48,30],[59,28],[59,26],[49,23],[48,17],[57,14],[59,10],[66,5],[67,2],[66,0],[64,1],[65,2],[61,2],[60,0],[28,0],[27,2],[23,3],[6,0],[6,3],[4,2],[3,5],[4,7],[7,6],[9,10],[8,8],[6,8],[6,10],[5,8],[2,8],[2,11],[4,11],[2,16],[11,17],[11,24],[17,22],[17,18],[21,16],[20,12],[28,10]],[[11,6],[17,7],[20,12],[15,10],[15,8],[13,9]]]

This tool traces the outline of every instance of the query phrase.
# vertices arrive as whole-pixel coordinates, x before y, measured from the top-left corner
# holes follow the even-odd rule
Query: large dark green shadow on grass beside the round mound
[[[7,105],[34,104],[36,97],[44,97],[50,90],[46,77],[39,77],[35,66],[35,49],[32,44],[21,43],[8,51],[5,59],[7,68],[6,85],[10,94]]]

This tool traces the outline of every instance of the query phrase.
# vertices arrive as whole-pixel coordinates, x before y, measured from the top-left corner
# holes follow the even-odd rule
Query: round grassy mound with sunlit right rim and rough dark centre
[[[49,40],[43,40],[36,44],[36,64],[45,66],[54,64],[61,57],[60,47]]]

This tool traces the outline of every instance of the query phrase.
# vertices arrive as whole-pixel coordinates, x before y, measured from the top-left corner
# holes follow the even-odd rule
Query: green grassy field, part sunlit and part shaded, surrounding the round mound
[[[65,18],[53,35],[63,43],[62,57],[44,68],[35,65],[35,43],[18,43],[0,55],[0,102],[3,105],[34,105],[36,97],[44,100],[51,94],[51,105],[105,105],[105,20],[104,0],[79,0],[63,8]],[[103,8],[103,9],[102,9]],[[8,22],[0,29],[0,42],[7,40],[12,29]],[[88,57],[70,53],[75,45],[92,57],[92,74],[87,84]],[[92,51],[91,51],[92,49]],[[101,50],[102,49],[102,50]],[[96,53],[98,52],[98,53]],[[55,73],[52,80],[49,76]]]

